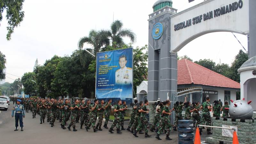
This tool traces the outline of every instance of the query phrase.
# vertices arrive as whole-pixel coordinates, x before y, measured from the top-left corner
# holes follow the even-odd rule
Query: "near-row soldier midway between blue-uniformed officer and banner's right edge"
[[[71,131],[70,127],[73,126],[73,131],[76,132],[76,116],[78,112],[80,111],[80,104],[79,100],[75,100],[75,103],[71,105],[71,123],[68,126],[68,130]]]

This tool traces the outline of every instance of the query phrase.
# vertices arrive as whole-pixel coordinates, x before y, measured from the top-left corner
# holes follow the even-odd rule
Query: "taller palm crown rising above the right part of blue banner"
[[[123,28],[123,23],[120,20],[116,20],[111,24],[110,30],[101,30],[100,34],[108,35],[110,40],[112,40],[112,46],[123,46],[124,41],[123,37],[130,38],[131,42],[136,41],[136,35],[132,32],[131,29]]]

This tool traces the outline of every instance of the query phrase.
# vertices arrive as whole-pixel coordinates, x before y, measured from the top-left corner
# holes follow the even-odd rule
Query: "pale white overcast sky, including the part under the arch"
[[[203,2],[172,0],[178,12]],[[43,65],[52,56],[71,55],[78,40],[88,36],[91,29],[110,29],[113,20],[121,20],[124,28],[136,34],[133,47],[148,44],[148,15],[156,0],[25,0],[24,20],[14,29],[12,39],[6,40],[7,20],[0,26],[0,51],[6,56],[6,82],[12,83],[25,72],[32,72],[35,61]],[[247,36],[235,34],[247,50]],[[130,43],[125,38],[125,43]],[[84,45],[90,48],[91,45]],[[200,36],[184,46],[179,56],[188,55],[193,61],[211,59],[231,65],[243,47],[232,33],[217,32]],[[244,50],[243,50],[244,51]],[[245,51],[244,51],[245,52]],[[15,76],[14,76],[15,75]]]

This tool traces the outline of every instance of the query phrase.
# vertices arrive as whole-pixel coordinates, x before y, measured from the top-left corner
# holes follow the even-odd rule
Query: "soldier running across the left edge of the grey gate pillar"
[[[151,135],[148,135],[148,127],[149,127],[149,125],[148,125],[148,120],[147,120],[147,118],[146,118],[146,116],[145,116],[145,114],[148,114],[148,108],[147,108],[147,106],[148,106],[148,100],[145,100],[144,103],[145,103],[145,104],[143,105],[143,103],[140,102],[140,106],[141,106],[142,108],[139,110],[139,112],[140,112],[140,121],[139,121],[139,124],[138,124],[136,130],[135,130],[134,133],[133,133],[133,135],[134,135],[135,137],[138,137],[138,136],[137,136],[137,132],[138,132],[138,131],[141,131],[141,130],[142,130],[142,127],[143,127],[143,129],[145,130],[145,137],[147,138],[147,137],[150,137],[150,136],[151,136]]]

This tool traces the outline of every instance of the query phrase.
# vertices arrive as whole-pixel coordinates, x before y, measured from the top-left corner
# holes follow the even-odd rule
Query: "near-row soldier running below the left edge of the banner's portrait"
[[[121,125],[120,111],[123,111],[123,109],[120,108],[121,104],[122,104],[122,100],[118,100],[117,103],[115,103],[115,105],[114,105],[114,116],[115,116],[115,119],[114,119],[114,122],[111,125],[110,129],[108,130],[108,132],[110,132],[110,133],[114,133],[112,131],[113,131],[113,128],[115,126],[116,126],[116,131],[117,131],[116,133],[119,133],[119,134],[122,133],[120,131],[120,125]]]

